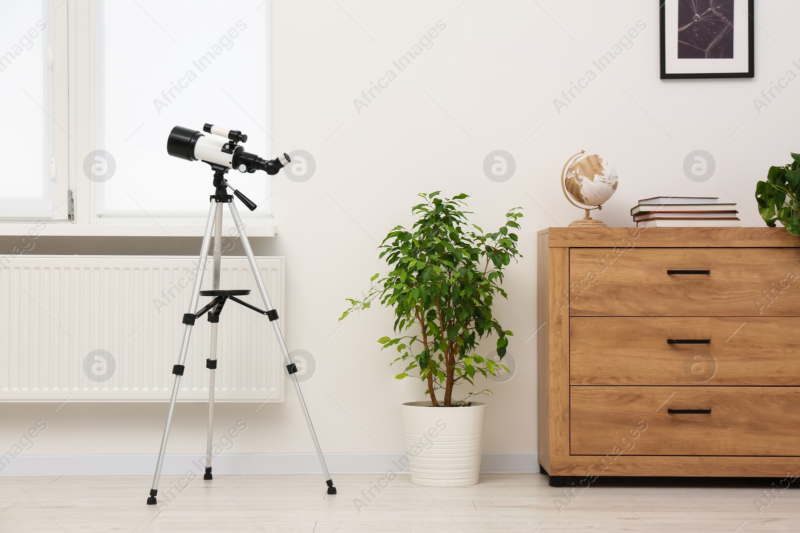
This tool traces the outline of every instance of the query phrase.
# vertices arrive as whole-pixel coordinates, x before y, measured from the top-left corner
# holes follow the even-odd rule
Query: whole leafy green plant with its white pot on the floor
[[[348,298],[351,307],[366,309],[375,299],[394,308],[394,335],[384,336],[382,349],[397,350],[393,364],[402,364],[402,380],[416,374],[426,384],[425,401],[402,405],[409,452],[411,482],[432,487],[478,483],[483,419],[486,404],[473,397],[458,399],[455,385],[474,378],[508,372],[502,362],[475,353],[486,336],[497,336],[500,360],[508,336],[492,314],[494,296],[506,296],[501,284],[517,249],[521,208],[506,213],[506,223],[484,233],[470,224],[463,201],[468,196],[439,198],[439,192],[419,194],[424,200],[411,209],[416,217],[410,230],[397,226],[383,240],[380,257],[392,268],[363,300]],[[375,283],[375,280],[378,280]]]

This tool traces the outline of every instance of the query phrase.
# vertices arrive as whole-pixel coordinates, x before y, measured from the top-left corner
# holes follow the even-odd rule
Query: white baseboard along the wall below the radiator
[[[335,473],[397,471],[402,453],[329,453],[328,470]],[[2,458],[0,458],[2,459]],[[152,475],[156,454],[18,455],[0,461],[0,475]],[[162,473],[202,474],[205,455],[167,454]],[[320,471],[314,453],[223,453],[214,458],[219,474],[314,474]],[[538,472],[534,452],[484,453],[482,472]]]

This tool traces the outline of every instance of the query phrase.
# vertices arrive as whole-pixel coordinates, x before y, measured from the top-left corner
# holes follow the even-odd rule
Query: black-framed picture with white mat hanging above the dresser
[[[753,78],[754,0],[659,0],[661,79]]]

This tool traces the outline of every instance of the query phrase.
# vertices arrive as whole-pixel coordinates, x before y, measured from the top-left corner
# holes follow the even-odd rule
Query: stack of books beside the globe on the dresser
[[[645,198],[630,210],[639,228],[738,226],[737,213],[719,198],[674,196]]]

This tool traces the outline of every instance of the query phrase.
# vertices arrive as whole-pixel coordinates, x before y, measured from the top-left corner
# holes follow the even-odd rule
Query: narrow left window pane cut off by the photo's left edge
[[[66,215],[66,165],[58,165],[50,2],[8,2],[0,16],[0,213],[6,217]],[[66,10],[65,10],[66,11]],[[65,161],[66,162],[66,161]],[[54,202],[58,205],[54,205]]]

